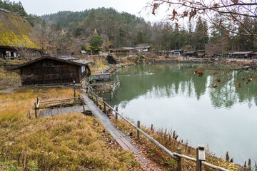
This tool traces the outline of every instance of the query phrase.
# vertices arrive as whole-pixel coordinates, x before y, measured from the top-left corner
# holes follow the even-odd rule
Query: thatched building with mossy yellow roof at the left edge
[[[32,26],[22,16],[0,9],[0,58],[41,56],[41,48],[34,43]]]

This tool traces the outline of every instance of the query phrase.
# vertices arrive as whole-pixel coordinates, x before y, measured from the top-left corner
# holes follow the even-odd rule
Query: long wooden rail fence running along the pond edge
[[[125,118],[123,115],[121,115],[120,113],[118,113],[118,108],[114,109],[111,107],[111,105],[109,105],[108,103],[106,103],[105,100],[102,100],[102,98],[100,98],[98,95],[96,95],[96,93],[94,93],[92,90],[87,90],[87,93],[89,94],[89,98],[91,98],[92,100],[94,100],[94,96],[96,98],[95,102],[97,104],[99,104],[98,100],[101,100],[102,103],[104,103],[104,113],[107,115],[107,111],[106,111],[106,106],[109,107],[109,109],[111,109],[112,111],[115,112],[115,120],[117,122],[118,120],[118,115],[124,119],[127,123],[129,123],[133,128],[135,128],[139,133],[141,133],[142,135],[144,135],[146,138],[148,138],[148,140],[151,140],[151,142],[153,142],[154,144],[156,144],[158,147],[160,147],[164,152],[166,152],[168,155],[170,155],[173,159],[175,159],[177,161],[177,165],[176,165],[176,170],[177,171],[181,171],[181,158],[184,158],[186,160],[191,160],[193,162],[196,162],[196,170],[197,171],[201,171],[202,170],[202,165],[206,165],[208,167],[211,167],[213,169],[216,170],[223,170],[223,171],[228,171],[227,169],[223,168],[223,167],[219,167],[216,165],[212,165],[208,162],[205,162],[205,151],[204,151],[204,147],[203,145],[199,145],[196,148],[196,158],[193,157],[189,157],[186,155],[182,155],[181,154],[181,148],[178,148],[177,152],[171,152],[170,150],[168,150],[166,147],[164,147],[163,145],[161,145],[159,142],[157,142],[156,140],[154,140],[150,135],[148,135],[147,133],[143,132],[143,130],[140,129],[140,122],[138,123],[138,125],[134,125],[133,123],[131,123],[130,120],[128,120],[127,118]]]

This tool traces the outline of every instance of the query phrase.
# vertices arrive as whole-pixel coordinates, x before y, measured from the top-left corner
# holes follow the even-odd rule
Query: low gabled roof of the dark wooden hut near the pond
[[[86,61],[84,59],[74,58],[74,57],[71,57],[71,56],[42,56],[41,58],[36,58],[32,61],[22,63],[21,65],[15,66],[14,68],[10,68],[9,70],[19,69],[19,68],[27,66],[31,63],[35,63],[36,61],[41,61],[45,58],[49,58],[49,59],[53,59],[53,60],[61,61],[61,62],[66,62],[66,63],[71,63],[71,64],[74,64],[74,65],[77,65],[77,66],[86,66],[87,64],[92,63],[91,61]]]

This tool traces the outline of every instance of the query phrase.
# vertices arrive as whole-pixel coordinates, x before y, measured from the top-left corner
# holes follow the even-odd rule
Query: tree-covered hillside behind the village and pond
[[[257,51],[256,38],[244,36],[243,27],[236,26],[222,15],[213,16],[213,21],[220,23],[222,28],[233,27],[235,32],[242,34],[228,33],[221,26],[210,26],[200,17],[176,26],[170,21],[153,24],[112,8],[59,11],[40,17],[26,14],[20,2],[0,0],[0,8],[26,17],[39,35],[41,47],[55,47],[56,53],[70,54],[71,51],[84,50],[89,45],[95,28],[102,40],[111,42],[114,48],[148,44],[155,51],[180,48],[196,51],[204,49],[206,43],[219,43],[223,46],[224,54],[230,51]],[[256,18],[246,16],[241,23],[251,28],[252,33],[257,33]]]

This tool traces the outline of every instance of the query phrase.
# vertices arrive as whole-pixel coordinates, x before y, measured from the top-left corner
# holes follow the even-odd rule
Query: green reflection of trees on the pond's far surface
[[[216,78],[208,72],[205,72],[203,77],[193,75],[193,71],[199,66],[202,65],[157,64],[122,68],[119,71],[121,89],[116,96],[123,107],[130,100],[146,95],[148,98],[171,98],[179,94],[200,100],[201,96],[206,93],[208,81],[213,83]],[[237,80],[231,80],[223,86],[209,88],[211,103],[216,108],[231,108],[237,98],[239,102],[247,101],[250,106],[252,100],[256,103],[256,83],[236,88],[237,83]],[[111,104],[118,105],[119,101],[114,100]]]

